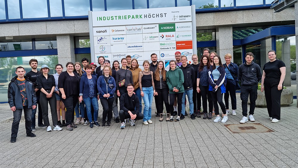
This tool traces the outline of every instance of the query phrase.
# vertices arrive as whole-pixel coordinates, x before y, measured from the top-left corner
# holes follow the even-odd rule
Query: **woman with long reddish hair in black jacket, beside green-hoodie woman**
[[[157,99],[157,111],[159,111],[159,121],[163,121],[162,112],[164,111],[164,105],[166,106],[167,118],[166,121],[170,120],[170,105],[169,105],[169,88],[167,87],[166,79],[167,71],[164,69],[164,62],[158,61],[157,69],[153,73],[153,81],[155,85],[155,95]]]

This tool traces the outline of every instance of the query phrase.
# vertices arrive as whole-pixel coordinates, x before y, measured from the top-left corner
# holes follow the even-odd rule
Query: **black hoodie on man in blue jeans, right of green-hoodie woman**
[[[193,86],[196,86],[197,77],[195,76],[195,69],[193,69],[193,66],[190,64],[187,64],[186,67],[179,67],[184,75],[184,83],[183,87],[184,90],[191,90],[193,89]]]

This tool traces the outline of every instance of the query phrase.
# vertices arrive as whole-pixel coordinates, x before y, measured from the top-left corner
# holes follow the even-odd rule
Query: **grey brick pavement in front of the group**
[[[241,102],[237,93],[237,115],[226,124],[239,124]],[[21,121],[16,143],[10,143],[13,117],[8,104],[0,104],[1,167],[298,167],[298,109],[296,100],[282,107],[281,121],[271,123],[266,108],[256,108],[255,123],[274,130],[268,133],[231,133],[223,123],[186,116],[179,122],[136,127],[120,123],[111,127],[79,125],[73,131],[46,132],[36,128],[35,138],[26,137]],[[99,103],[100,104],[100,103]],[[153,101],[154,104],[154,101]],[[102,107],[100,104],[100,122]],[[51,120],[50,113],[49,119]],[[51,123],[51,121],[50,121]],[[250,123],[247,122],[247,123]]]

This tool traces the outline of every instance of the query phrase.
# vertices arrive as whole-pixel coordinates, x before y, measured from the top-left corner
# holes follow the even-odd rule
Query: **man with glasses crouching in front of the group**
[[[123,86],[125,87],[125,86]],[[124,93],[120,97],[120,111],[119,118],[121,120],[120,129],[125,128],[125,119],[128,119],[128,122],[131,126],[135,126],[134,120],[142,120],[144,115],[140,113],[140,103],[139,98],[134,93],[134,85],[127,85],[127,93]]]

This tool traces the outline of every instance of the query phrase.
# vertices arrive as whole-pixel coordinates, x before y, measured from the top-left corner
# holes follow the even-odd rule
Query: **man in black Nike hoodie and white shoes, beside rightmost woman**
[[[261,68],[258,64],[252,61],[254,54],[252,52],[246,53],[245,62],[239,66],[238,77],[241,80],[241,94],[242,100],[242,115],[243,118],[240,121],[244,124],[248,121],[247,118],[247,101],[248,96],[250,100],[249,108],[249,120],[254,122],[254,109],[256,107],[258,83],[262,78]]]

